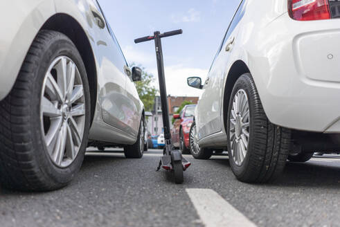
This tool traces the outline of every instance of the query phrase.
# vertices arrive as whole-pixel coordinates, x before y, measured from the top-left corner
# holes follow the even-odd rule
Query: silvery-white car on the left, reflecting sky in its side
[[[0,179],[53,190],[88,145],[141,158],[144,107],[96,0],[0,1]]]

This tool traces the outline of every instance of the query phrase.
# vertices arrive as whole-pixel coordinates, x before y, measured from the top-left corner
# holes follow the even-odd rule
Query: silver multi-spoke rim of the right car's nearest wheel
[[[236,165],[242,165],[248,152],[249,142],[249,101],[247,93],[239,90],[233,98],[230,114],[229,138],[231,156]]]

